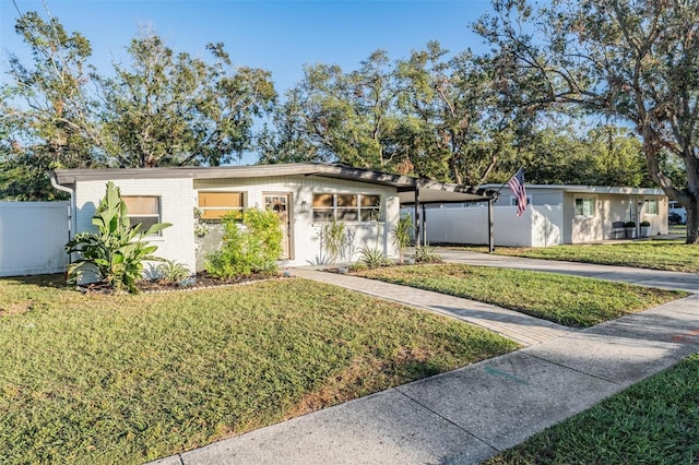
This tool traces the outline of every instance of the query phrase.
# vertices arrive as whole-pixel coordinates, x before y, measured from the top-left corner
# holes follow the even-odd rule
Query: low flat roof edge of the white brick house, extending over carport
[[[216,167],[57,169],[52,174],[59,184],[71,189],[75,189],[78,182],[81,181],[116,179],[234,179],[269,176],[319,176],[396,188],[401,204],[415,203],[416,193],[419,194],[420,203],[473,202],[497,198],[497,192],[489,189],[320,163]]]

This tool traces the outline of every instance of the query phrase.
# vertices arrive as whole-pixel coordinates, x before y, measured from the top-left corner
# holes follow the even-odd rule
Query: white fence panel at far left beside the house
[[[0,202],[0,276],[60,273],[69,202]]]

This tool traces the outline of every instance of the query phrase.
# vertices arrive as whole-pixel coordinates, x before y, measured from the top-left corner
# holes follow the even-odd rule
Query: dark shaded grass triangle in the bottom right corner
[[[699,354],[487,462],[699,463]]]

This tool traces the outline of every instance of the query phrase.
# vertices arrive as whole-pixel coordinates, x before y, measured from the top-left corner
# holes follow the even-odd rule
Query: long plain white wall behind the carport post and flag
[[[494,210],[495,245],[547,247],[562,243],[562,207],[560,205],[529,206],[517,216],[516,206]],[[426,208],[428,243],[488,243],[488,208]]]

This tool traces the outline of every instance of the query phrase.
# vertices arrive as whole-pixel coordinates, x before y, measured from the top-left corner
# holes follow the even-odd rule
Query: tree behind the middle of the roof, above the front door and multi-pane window
[[[392,170],[400,162],[401,147],[393,140],[400,121],[390,64],[386,52],[378,50],[359,70],[348,73],[337,65],[306,67],[304,80],[275,115],[276,130],[263,141],[262,160],[291,157]]]

